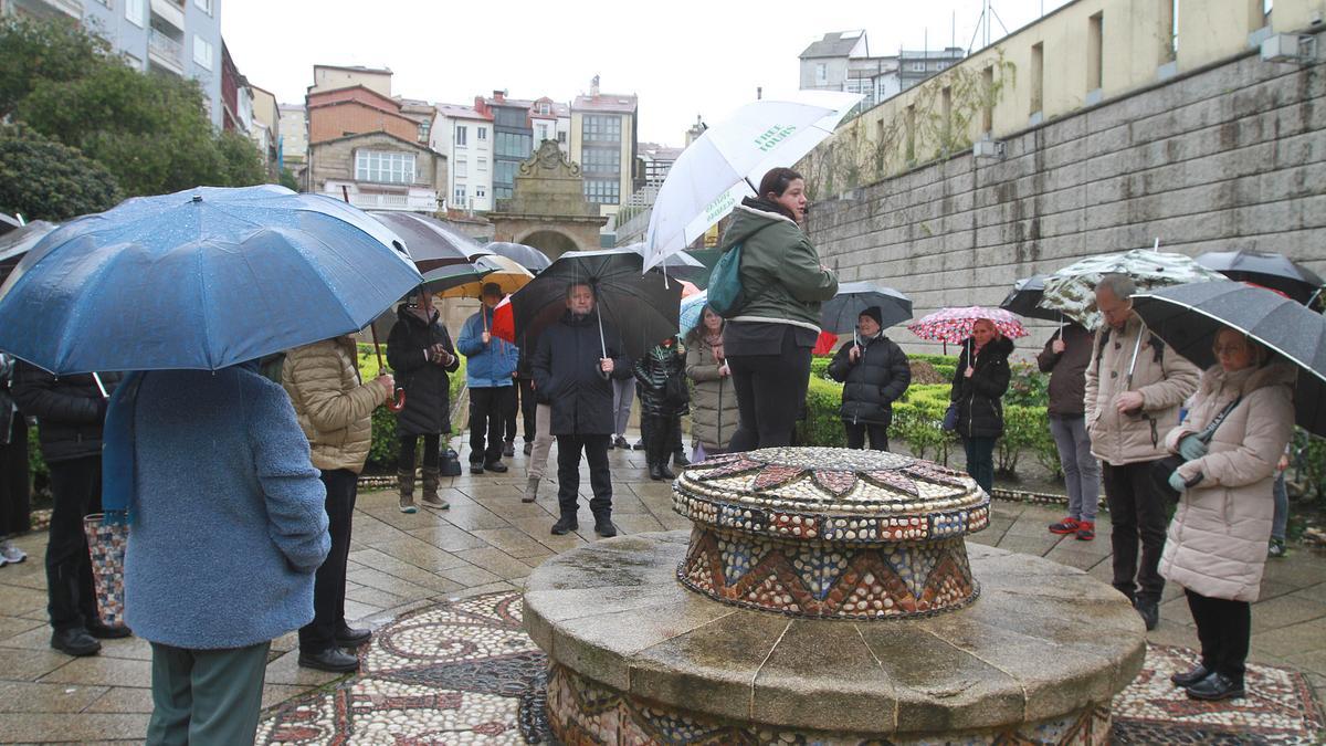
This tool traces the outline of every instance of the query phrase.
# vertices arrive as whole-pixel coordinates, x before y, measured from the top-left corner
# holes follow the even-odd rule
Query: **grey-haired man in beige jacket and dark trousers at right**
[[[1201,373],[1132,312],[1135,289],[1127,275],[1106,275],[1095,288],[1105,324],[1086,366],[1083,404],[1091,453],[1103,462],[1114,587],[1134,603],[1147,629],[1155,629],[1164,591],[1158,565],[1167,519],[1151,465],[1168,455],[1164,437],[1179,423],[1179,408],[1197,390]]]

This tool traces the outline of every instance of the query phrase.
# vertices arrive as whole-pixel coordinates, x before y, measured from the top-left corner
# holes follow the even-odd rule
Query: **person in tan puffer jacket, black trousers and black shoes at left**
[[[358,360],[354,337],[345,336],[292,349],[281,369],[313,466],[322,470],[332,532],[332,552],[313,585],[313,621],[300,629],[300,665],[338,673],[359,668],[359,658],[341,648],[362,645],[370,636],[345,621],[350,516],[373,442],[373,410],[395,393],[391,374],[365,384]]]

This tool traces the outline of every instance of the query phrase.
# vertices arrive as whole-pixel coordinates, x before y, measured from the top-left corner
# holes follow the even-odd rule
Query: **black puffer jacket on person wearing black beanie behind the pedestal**
[[[911,385],[911,366],[903,349],[884,335],[861,341],[861,357],[850,362],[851,348],[842,345],[829,364],[829,376],[843,384],[843,422],[884,425],[894,421],[894,402]]]

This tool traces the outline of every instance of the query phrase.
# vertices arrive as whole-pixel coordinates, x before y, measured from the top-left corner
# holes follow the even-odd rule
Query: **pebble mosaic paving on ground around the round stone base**
[[[686,737],[690,737],[687,743],[712,746],[858,742],[837,734],[751,734],[678,713],[638,708],[619,693],[586,686],[581,678],[557,681],[558,669],[549,677],[545,658],[520,632],[520,620],[521,600],[516,592],[443,604],[398,619],[378,631],[362,653],[359,677],[330,692],[273,708],[259,727],[257,743],[549,743],[553,742],[549,721],[558,711],[566,713],[557,708],[577,701],[589,701],[598,715],[575,722],[618,726],[629,722],[619,733],[639,737],[639,741],[607,737],[603,739],[607,743],[676,743]],[[1187,670],[1196,660],[1196,653],[1185,648],[1151,645],[1146,668],[1114,698],[1114,723],[1109,731],[1113,742],[1306,745],[1319,743],[1326,735],[1302,674],[1249,665],[1246,700],[1193,702],[1170,685],[1170,674]],[[1090,717],[1090,721],[1042,725],[1038,733],[1005,734],[1008,739],[1002,743],[1099,742],[1098,734],[1109,726],[1107,711],[1095,710]],[[579,726],[564,717],[566,743],[587,742],[575,739],[570,733],[575,727]],[[587,737],[587,729],[581,733]],[[1066,739],[1073,734],[1079,739]]]

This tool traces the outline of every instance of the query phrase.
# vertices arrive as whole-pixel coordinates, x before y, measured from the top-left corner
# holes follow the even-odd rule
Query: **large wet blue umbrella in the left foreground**
[[[46,235],[0,288],[0,350],[56,374],[216,370],[354,332],[419,281],[349,204],[199,187]]]

